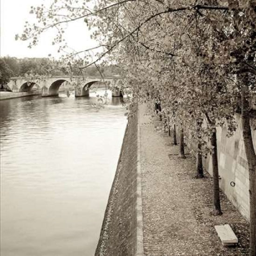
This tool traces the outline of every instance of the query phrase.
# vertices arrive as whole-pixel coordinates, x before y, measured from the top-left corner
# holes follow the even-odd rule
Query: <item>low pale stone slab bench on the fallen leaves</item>
[[[229,224],[216,225],[214,227],[216,229],[218,236],[222,241],[222,245],[229,246],[229,245],[235,245],[236,243],[238,243],[238,239],[235,233],[233,232],[233,230],[231,229],[231,227],[229,226]]]

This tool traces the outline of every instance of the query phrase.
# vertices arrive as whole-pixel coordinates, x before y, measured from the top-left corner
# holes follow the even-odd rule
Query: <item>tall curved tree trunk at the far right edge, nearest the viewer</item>
[[[249,202],[250,202],[250,256],[256,256],[256,153],[250,127],[249,88],[242,85],[242,128],[243,143],[249,171]]]

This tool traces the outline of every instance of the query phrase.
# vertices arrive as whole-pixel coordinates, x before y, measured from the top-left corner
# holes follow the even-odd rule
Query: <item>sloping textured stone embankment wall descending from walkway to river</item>
[[[95,256],[139,255],[137,121],[128,121]]]

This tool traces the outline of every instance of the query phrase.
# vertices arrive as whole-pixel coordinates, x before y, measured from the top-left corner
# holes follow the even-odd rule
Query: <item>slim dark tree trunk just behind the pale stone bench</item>
[[[220,187],[219,187],[219,168],[218,168],[218,152],[217,152],[217,137],[216,129],[211,135],[212,149],[212,176],[213,176],[213,214],[221,215],[221,202],[220,202]]]

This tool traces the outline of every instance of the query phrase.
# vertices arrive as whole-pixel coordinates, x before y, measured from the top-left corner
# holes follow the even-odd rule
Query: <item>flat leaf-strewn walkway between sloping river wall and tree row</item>
[[[222,216],[212,216],[212,179],[195,179],[195,158],[179,159],[178,146],[157,131],[145,104],[139,108],[145,256],[248,255],[249,222],[221,193]],[[186,148],[187,149],[187,148]],[[188,149],[187,149],[188,150]],[[214,225],[229,223],[236,247],[223,247]]]

